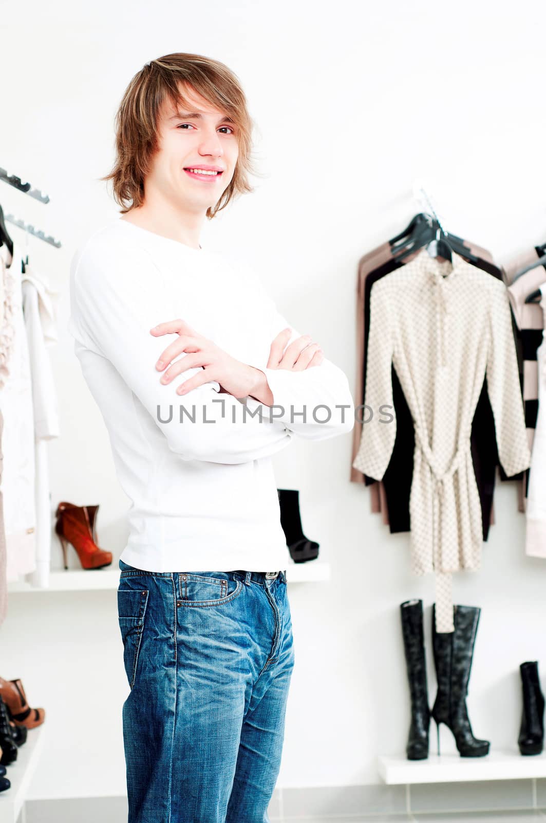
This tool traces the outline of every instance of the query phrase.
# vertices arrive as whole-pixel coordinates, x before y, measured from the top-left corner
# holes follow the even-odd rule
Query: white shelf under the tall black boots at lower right
[[[385,783],[456,783],[476,780],[546,778],[546,753],[521,755],[519,749],[489,751],[485,757],[429,754],[427,760],[405,756],[377,758]]]

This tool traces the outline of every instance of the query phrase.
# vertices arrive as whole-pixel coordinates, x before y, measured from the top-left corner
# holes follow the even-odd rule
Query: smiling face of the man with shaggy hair
[[[237,127],[190,86],[184,86],[187,109],[163,104],[158,122],[159,150],[146,175],[150,186],[176,206],[206,212],[220,200],[234,176],[238,158]],[[190,169],[203,167],[216,174]]]

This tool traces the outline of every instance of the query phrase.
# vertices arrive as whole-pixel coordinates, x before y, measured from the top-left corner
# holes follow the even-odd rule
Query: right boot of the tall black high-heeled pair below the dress
[[[440,723],[451,729],[461,757],[484,757],[489,751],[488,740],[474,737],[466,709],[480,611],[474,606],[454,606],[455,631],[437,632],[436,603],[433,605],[433,653],[438,686],[432,716],[437,726],[438,755]]]

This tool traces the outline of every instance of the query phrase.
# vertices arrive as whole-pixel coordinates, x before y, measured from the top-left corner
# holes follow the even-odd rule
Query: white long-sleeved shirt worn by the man
[[[271,457],[294,436],[353,429],[344,372],[326,358],[301,372],[266,368],[289,323],[257,277],[118,217],[76,250],[70,299],[74,351],[132,501],[122,560],[150,571],[285,569]],[[178,318],[262,370],[274,407],[220,392],[216,381],[178,395],[201,366],[161,384],[155,363],[178,338],[150,329]],[[299,336],[293,328],[290,342]]]

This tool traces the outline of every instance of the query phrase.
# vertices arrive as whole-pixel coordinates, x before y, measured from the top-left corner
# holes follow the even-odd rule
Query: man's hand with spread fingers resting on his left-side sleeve
[[[235,398],[244,398],[248,396],[256,383],[256,370],[252,366],[236,360],[211,340],[198,334],[181,319],[160,323],[159,326],[150,328],[150,334],[154,337],[160,337],[163,334],[178,334],[177,339],[160,354],[155,364],[155,368],[159,371],[163,371],[165,366],[168,366],[183,351],[191,352],[169,366],[161,377],[161,383],[169,383],[187,369],[202,368],[199,374],[194,374],[178,386],[177,394],[187,394],[192,391],[192,388],[202,386],[210,380],[216,380],[221,384],[222,391],[233,394]]]

